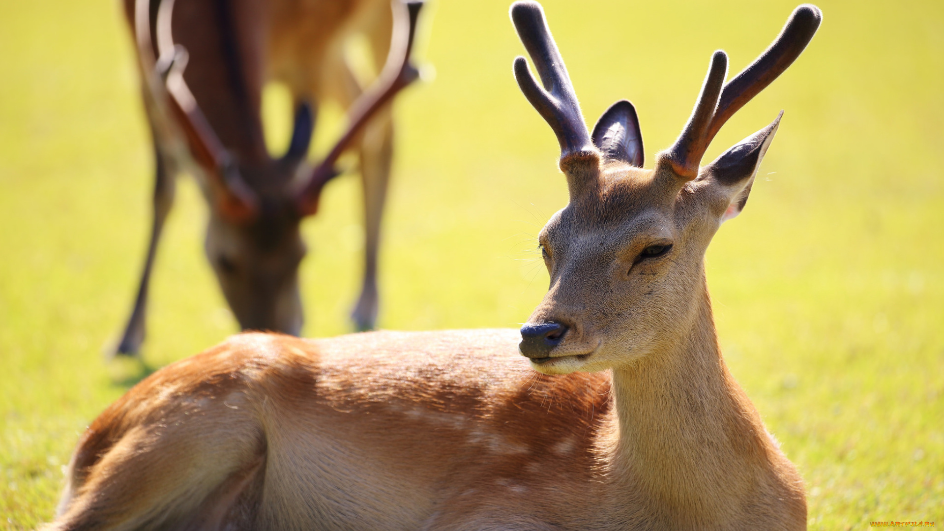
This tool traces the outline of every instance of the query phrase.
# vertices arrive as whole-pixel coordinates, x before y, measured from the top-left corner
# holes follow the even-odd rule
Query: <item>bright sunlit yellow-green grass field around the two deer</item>
[[[891,4],[819,4],[810,48],[706,157],[785,110],[748,207],[707,261],[728,363],[800,467],[811,529],[944,525],[944,3]],[[682,128],[711,51],[738,71],[794,7],[545,2],[588,120],[632,99],[648,163]],[[547,286],[534,237],[565,182],[514,83],[523,49],[507,9],[429,9],[420,52],[436,77],[397,102],[383,328],[517,327]],[[29,529],[51,519],[78,434],[141,371],[102,352],[143,260],[151,157],[114,0],[0,3],[0,79],[0,528]],[[289,116],[268,95],[278,146]],[[318,146],[340,124],[328,115]],[[305,335],[348,331],[358,196],[355,178],[337,180],[304,226]],[[205,215],[181,180],[150,367],[235,332],[202,256]]]

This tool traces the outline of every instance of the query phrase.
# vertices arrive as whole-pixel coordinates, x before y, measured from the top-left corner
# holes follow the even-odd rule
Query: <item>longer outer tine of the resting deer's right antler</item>
[[[708,128],[708,144],[734,112],[766,89],[767,85],[800,57],[803,49],[816,34],[822,18],[822,12],[812,4],[803,4],[794,9],[784,29],[767,50],[724,86],[715,118]]]

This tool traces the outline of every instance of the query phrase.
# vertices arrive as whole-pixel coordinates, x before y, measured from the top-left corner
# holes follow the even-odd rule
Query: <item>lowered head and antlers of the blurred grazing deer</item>
[[[186,136],[194,173],[211,205],[207,257],[243,329],[298,334],[303,322],[298,266],[306,253],[300,222],[317,211],[321,190],[340,173],[335,164],[363,126],[418,77],[410,55],[422,4],[394,3],[386,64],[374,86],[349,109],[345,133],[314,167],[306,163],[314,111],[304,102],[295,110],[292,139],[283,156],[241,160],[223,145],[184,81],[188,54],[173,42],[174,0],[159,4],[152,25],[151,2],[136,3],[138,52],[150,99],[161,109],[157,114],[168,117],[156,127]],[[152,26],[156,42],[151,39]]]

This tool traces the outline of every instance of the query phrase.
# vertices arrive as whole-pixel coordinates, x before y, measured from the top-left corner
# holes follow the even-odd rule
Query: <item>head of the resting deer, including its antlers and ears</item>
[[[688,123],[675,144],[644,169],[636,112],[616,102],[591,134],[564,61],[535,2],[511,17],[531,55],[514,76],[561,146],[570,200],[538,236],[550,288],[521,328],[520,351],[548,374],[600,370],[668,351],[707,302],[704,253],[721,222],[741,212],[781,115],[700,166],[718,129],[796,60],[819,26],[811,5],[795,9],[757,60],[724,83],[716,51]]]

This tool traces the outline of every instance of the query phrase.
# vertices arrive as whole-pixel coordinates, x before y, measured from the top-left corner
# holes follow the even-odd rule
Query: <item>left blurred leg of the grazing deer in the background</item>
[[[157,141],[154,143],[154,197],[152,201],[153,219],[151,224],[151,239],[147,246],[147,256],[144,258],[144,267],[141,273],[141,282],[138,285],[138,296],[134,300],[134,309],[128,317],[125,333],[115,351],[118,355],[138,356],[141,344],[144,341],[144,317],[147,307],[147,290],[151,279],[151,268],[158,251],[160,232],[163,231],[164,221],[174,204],[175,175],[169,171],[168,164],[160,153]]]

